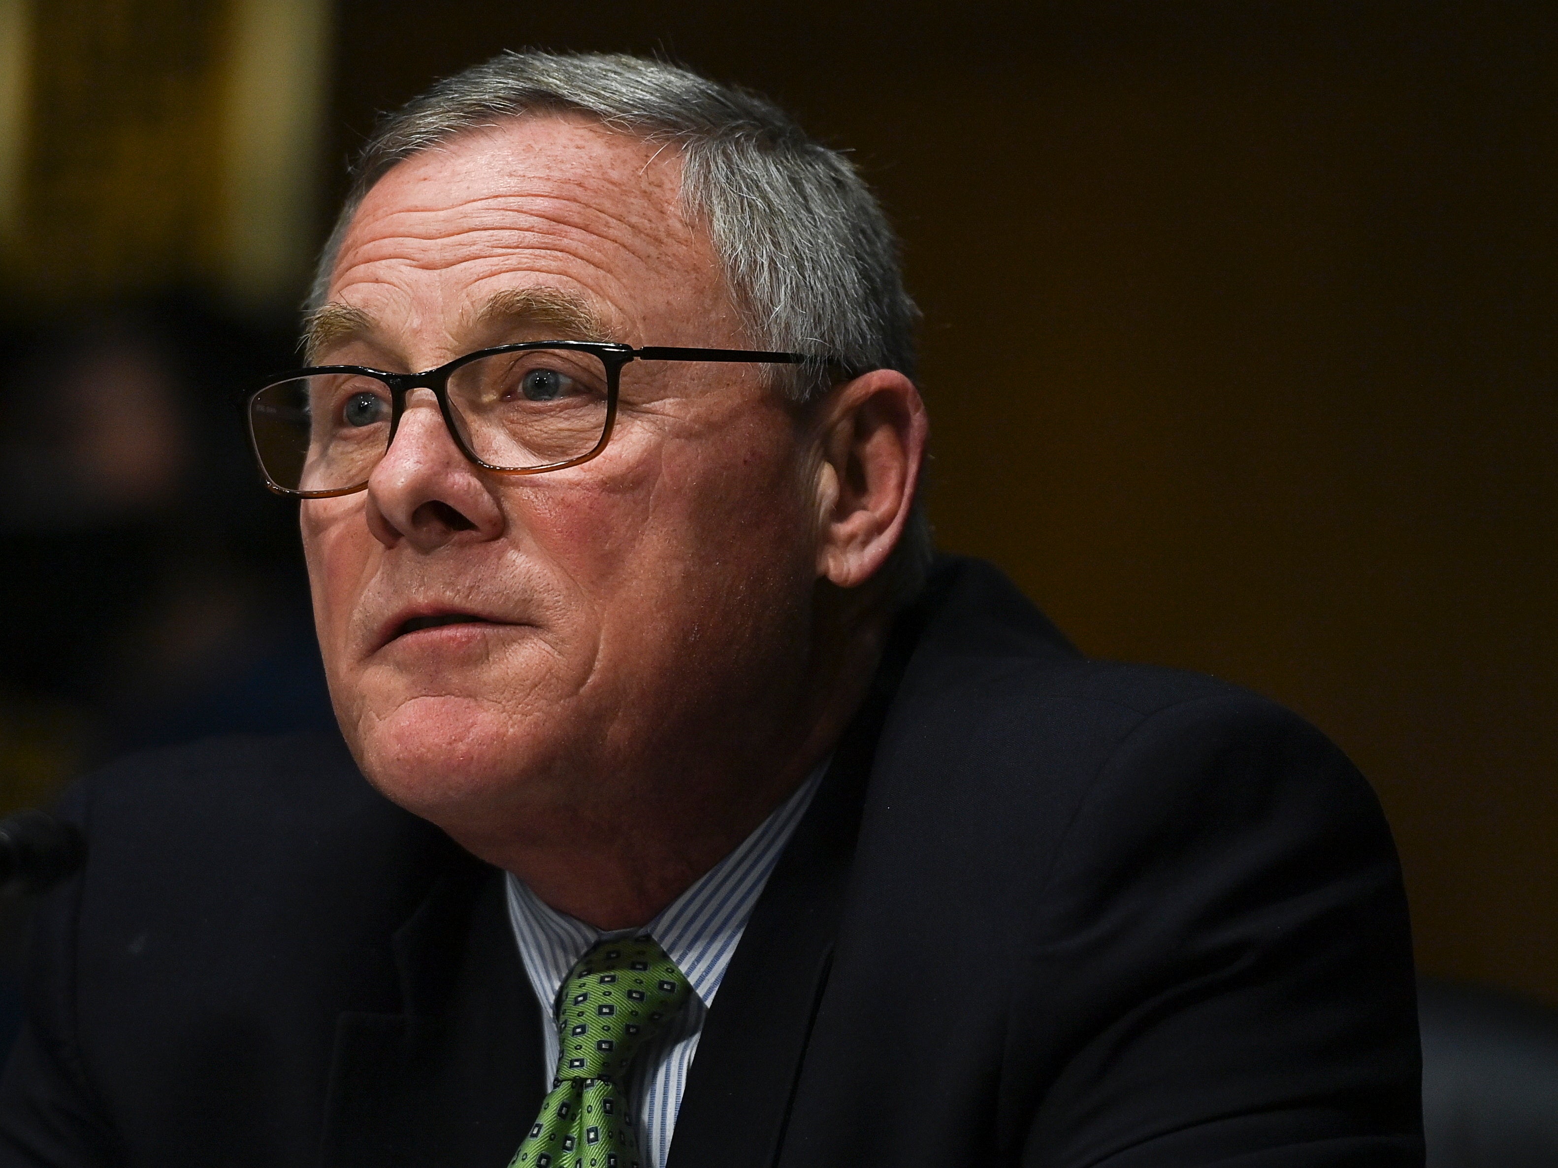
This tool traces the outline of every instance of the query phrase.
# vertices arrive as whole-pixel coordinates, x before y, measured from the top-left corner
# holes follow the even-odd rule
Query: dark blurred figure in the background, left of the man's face
[[[190,296],[5,338],[0,811],[129,749],[333,726],[296,506],[235,408],[288,349]],[[0,906],[0,1050],[20,925]]]

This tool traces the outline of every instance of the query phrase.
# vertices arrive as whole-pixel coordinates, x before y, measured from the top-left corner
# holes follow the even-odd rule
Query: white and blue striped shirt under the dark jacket
[[[514,927],[519,955],[530,975],[530,986],[541,1003],[541,1033],[547,1042],[545,1081],[550,1085],[558,1067],[558,1023],[552,1014],[558,989],[578,959],[608,938],[654,938],[665,955],[692,983],[687,1000],[665,1031],[637,1059],[628,1098],[634,1101],[639,1151],[645,1168],[665,1168],[671,1129],[687,1085],[687,1068],[698,1051],[703,1022],[714,1004],[731,955],[746,930],[757,897],[790,843],[795,827],[816,794],[827,769],[824,760],[805,782],[763,819],[724,860],[704,872],[643,928],[603,933],[583,920],[558,913],[509,874],[508,919]]]

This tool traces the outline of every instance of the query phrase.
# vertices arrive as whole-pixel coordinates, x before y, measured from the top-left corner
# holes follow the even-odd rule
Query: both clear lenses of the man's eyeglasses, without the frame
[[[590,453],[608,422],[606,366],[572,349],[491,354],[449,377],[460,441],[483,463],[533,470]],[[249,430],[265,473],[287,491],[349,491],[390,447],[390,386],[365,374],[312,374],[265,386]]]

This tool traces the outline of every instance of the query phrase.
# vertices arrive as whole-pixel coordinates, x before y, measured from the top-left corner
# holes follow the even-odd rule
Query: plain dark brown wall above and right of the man
[[[505,47],[777,98],[904,235],[939,544],[1087,653],[1318,723],[1422,967],[1558,1001],[1555,33],[1532,2],[341,0],[321,202],[375,111]]]

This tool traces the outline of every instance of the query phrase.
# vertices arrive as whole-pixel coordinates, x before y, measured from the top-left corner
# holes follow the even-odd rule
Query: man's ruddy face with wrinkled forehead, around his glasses
[[[675,151],[564,117],[418,154],[354,216],[313,360],[419,371],[589,332],[749,347],[678,182]],[[419,389],[368,491],[302,505],[346,738],[456,835],[605,822],[793,713],[816,576],[796,414],[759,366],[633,374],[583,466],[481,472]]]

